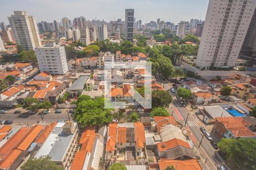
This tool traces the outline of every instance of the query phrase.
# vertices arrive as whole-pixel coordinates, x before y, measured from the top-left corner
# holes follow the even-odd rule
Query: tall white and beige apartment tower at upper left
[[[25,11],[14,11],[14,15],[8,17],[13,30],[16,43],[23,49],[30,50],[41,46],[41,41],[35,16],[30,16]]]

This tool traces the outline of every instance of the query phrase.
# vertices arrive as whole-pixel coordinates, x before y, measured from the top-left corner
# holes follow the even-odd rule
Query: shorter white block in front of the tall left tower
[[[68,72],[67,58],[64,46],[48,42],[45,46],[35,48],[40,72],[64,75]]]

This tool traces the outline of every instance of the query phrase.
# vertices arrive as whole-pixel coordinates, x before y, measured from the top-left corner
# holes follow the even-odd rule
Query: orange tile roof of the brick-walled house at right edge
[[[232,131],[235,137],[256,137],[256,134],[247,129],[249,124],[242,117],[217,117],[216,120]]]

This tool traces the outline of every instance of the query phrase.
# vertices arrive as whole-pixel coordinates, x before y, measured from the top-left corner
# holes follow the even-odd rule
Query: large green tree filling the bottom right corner
[[[225,159],[234,169],[256,168],[256,140],[253,138],[227,139],[222,138],[217,143],[220,151],[225,154]]]

